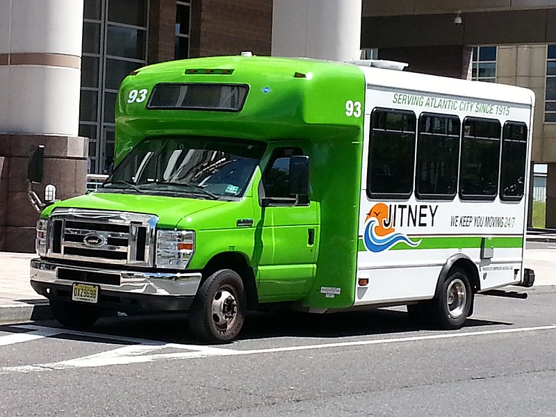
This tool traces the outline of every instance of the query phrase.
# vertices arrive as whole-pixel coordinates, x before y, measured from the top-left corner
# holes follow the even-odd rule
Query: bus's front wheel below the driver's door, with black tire
[[[226,343],[238,336],[245,318],[243,281],[233,270],[219,270],[199,287],[189,310],[189,327],[206,343]]]

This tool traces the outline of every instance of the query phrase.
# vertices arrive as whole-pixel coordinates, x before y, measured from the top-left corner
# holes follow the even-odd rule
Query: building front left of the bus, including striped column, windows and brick
[[[32,252],[29,154],[58,198],[112,167],[117,88],[176,58],[270,55],[272,0],[0,0],[0,251]]]

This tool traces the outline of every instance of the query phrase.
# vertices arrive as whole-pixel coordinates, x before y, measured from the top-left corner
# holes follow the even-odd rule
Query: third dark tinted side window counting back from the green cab
[[[494,199],[500,165],[500,122],[464,120],[461,140],[459,195],[462,199]]]

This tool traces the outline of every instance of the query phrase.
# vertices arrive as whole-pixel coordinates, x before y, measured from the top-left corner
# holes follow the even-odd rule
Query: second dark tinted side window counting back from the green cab
[[[432,114],[420,116],[415,179],[417,197],[455,197],[459,128],[457,116]]]

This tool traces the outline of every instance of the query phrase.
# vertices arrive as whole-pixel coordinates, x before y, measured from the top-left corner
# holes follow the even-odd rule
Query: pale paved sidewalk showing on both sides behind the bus
[[[528,242],[556,244],[556,230],[531,230]],[[535,285],[556,286],[556,250],[525,251],[525,267],[535,270]],[[0,325],[51,318],[48,300],[29,284],[29,261],[35,254],[0,252]],[[514,287],[518,291],[528,288]]]

